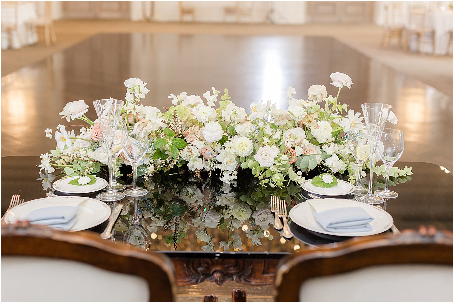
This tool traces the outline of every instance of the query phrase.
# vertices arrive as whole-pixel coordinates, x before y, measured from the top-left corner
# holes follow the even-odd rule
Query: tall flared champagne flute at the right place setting
[[[372,178],[375,168],[375,151],[377,149],[377,142],[380,141],[381,133],[385,128],[388,115],[391,108],[389,104],[383,103],[363,103],[361,104],[363,110],[364,122],[367,129],[367,139],[369,145],[369,161],[370,161],[370,176],[369,176],[369,191],[365,195],[357,195],[355,200],[369,203],[381,204],[385,199],[376,196],[372,193]]]

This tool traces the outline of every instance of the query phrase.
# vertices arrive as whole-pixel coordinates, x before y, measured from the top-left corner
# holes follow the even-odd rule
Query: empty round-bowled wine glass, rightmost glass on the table
[[[404,132],[399,129],[385,128],[381,135],[381,142],[378,143],[377,150],[381,161],[385,164],[386,183],[385,189],[375,191],[374,195],[385,199],[395,199],[399,194],[388,189],[388,181],[390,180],[391,167],[393,167],[394,163],[404,152]]]

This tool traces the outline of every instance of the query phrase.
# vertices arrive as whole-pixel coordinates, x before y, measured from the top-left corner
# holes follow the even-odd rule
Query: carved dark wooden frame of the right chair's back
[[[277,270],[275,301],[298,302],[301,284],[307,279],[385,264],[452,265],[452,233],[427,236],[408,232],[398,236],[354,238],[335,248],[291,255],[281,260]]]

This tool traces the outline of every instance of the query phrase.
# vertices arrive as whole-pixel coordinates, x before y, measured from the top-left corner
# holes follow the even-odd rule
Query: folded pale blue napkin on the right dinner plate
[[[370,231],[372,227],[369,222],[374,220],[361,207],[343,207],[320,213],[314,212],[314,217],[325,230],[331,232]]]

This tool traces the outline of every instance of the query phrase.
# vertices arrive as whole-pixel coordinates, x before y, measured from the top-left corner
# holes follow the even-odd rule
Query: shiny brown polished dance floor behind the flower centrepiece
[[[58,124],[69,101],[124,99],[127,78],[150,89],[144,105],[170,106],[170,93],[202,96],[212,86],[232,101],[271,100],[286,108],[285,87],[307,98],[312,84],[335,95],[329,75],[348,74],[352,88],[340,101],[360,111],[366,102],[388,103],[404,130],[403,161],[424,161],[452,171],[453,99],[396,72],[332,38],[184,34],[100,34],[1,78],[1,156],[39,155],[55,147],[46,128]],[[76,126],[76,131],[80,127]]]

